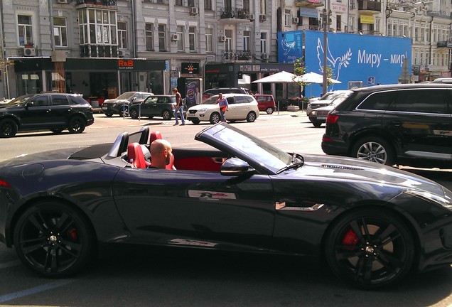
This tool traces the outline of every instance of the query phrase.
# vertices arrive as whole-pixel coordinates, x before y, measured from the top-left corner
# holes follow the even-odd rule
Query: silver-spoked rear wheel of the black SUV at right
[[[395,163],[395,153],[391,144],[377,136],[366,136],[357,140],[352,148],[352,156],[389,166]]]

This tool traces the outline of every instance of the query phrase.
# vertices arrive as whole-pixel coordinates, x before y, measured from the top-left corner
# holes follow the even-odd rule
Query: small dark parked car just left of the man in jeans
[[[132,102],[130,107],[130,117],[137,119],[142,117],[163,117],[171,119],[176,109],[175,95],[152,95],[144,99],[144,102]]]

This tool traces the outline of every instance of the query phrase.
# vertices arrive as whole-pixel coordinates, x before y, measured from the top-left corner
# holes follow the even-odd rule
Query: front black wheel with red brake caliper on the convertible
[[[381,209],[340,218],[325,237],[325,257],[333,273],[362,289],[399,281],[414,265],[414,239],[405,223]]]

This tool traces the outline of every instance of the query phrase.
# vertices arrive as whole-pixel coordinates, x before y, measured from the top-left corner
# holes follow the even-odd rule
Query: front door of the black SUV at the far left
[[[19,114],[22,129],[41,129],[53,122],[48,95],[36,95],[26,102]]]

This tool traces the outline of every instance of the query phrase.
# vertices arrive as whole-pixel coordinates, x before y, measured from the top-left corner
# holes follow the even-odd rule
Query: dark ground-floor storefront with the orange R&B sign
[[[163,94],[165,60],[67,58],[11,58],[11,97],[37,92],[74,92],[83,97],[107,99],[122,92],[143,91]]]

